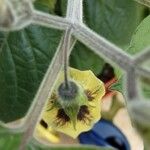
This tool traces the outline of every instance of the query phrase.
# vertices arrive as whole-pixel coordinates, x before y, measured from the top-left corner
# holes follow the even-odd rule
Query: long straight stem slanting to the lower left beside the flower
[[[66,41],[64,41],[66,42]],[[39,87],[37,95],[34,98],[34,103],[30,108],[30,111],[27,115],[26,121],[23,128],[26,128],[26,132],[23,136],[22,143],[20,145],[20,150],[24,150],[28,141],[32,138],[36,124],[39,122],[40,116],[44,105],[51,94],[53,84],[56,81],[57,75],[62,67],[62,57],[63,57],[63,38],[59,44],[57,52],[53,58],[51,65],[49,66],[47,73]],[[74,40],[72,40],[71,47],[73,48]],[[71,49],[69,49],[71,52]],[[69,52],[69,53],[70,53]],[[55,68],[55,69],[54,69]]]

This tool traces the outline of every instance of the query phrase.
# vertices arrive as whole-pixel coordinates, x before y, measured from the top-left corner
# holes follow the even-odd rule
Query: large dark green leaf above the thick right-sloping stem
[[[132,0],[87,0],[86,24],[118,46],[126,47],[141,21],[143,7]]]

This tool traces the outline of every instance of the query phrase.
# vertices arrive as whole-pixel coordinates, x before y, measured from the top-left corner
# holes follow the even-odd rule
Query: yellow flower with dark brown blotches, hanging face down
[[[105,86],[91,71],[69,68],[69,75],[70,80],[78,85],[77,104],[65,101],[68,105],[64,107],[60,102],[58,89],[64,81],[61,72],[42,119],[54,130],[76,138],[81,132],[90,130],[101,118],[101,99],[105,94]]]

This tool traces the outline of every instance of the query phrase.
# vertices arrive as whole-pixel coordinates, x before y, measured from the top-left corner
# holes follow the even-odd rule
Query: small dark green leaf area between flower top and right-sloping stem
[[[77,42],[70,57],[70,65],[80,70],[91,70],[98,75],[103,66],[104,60],[93,53],[83,44]]]

